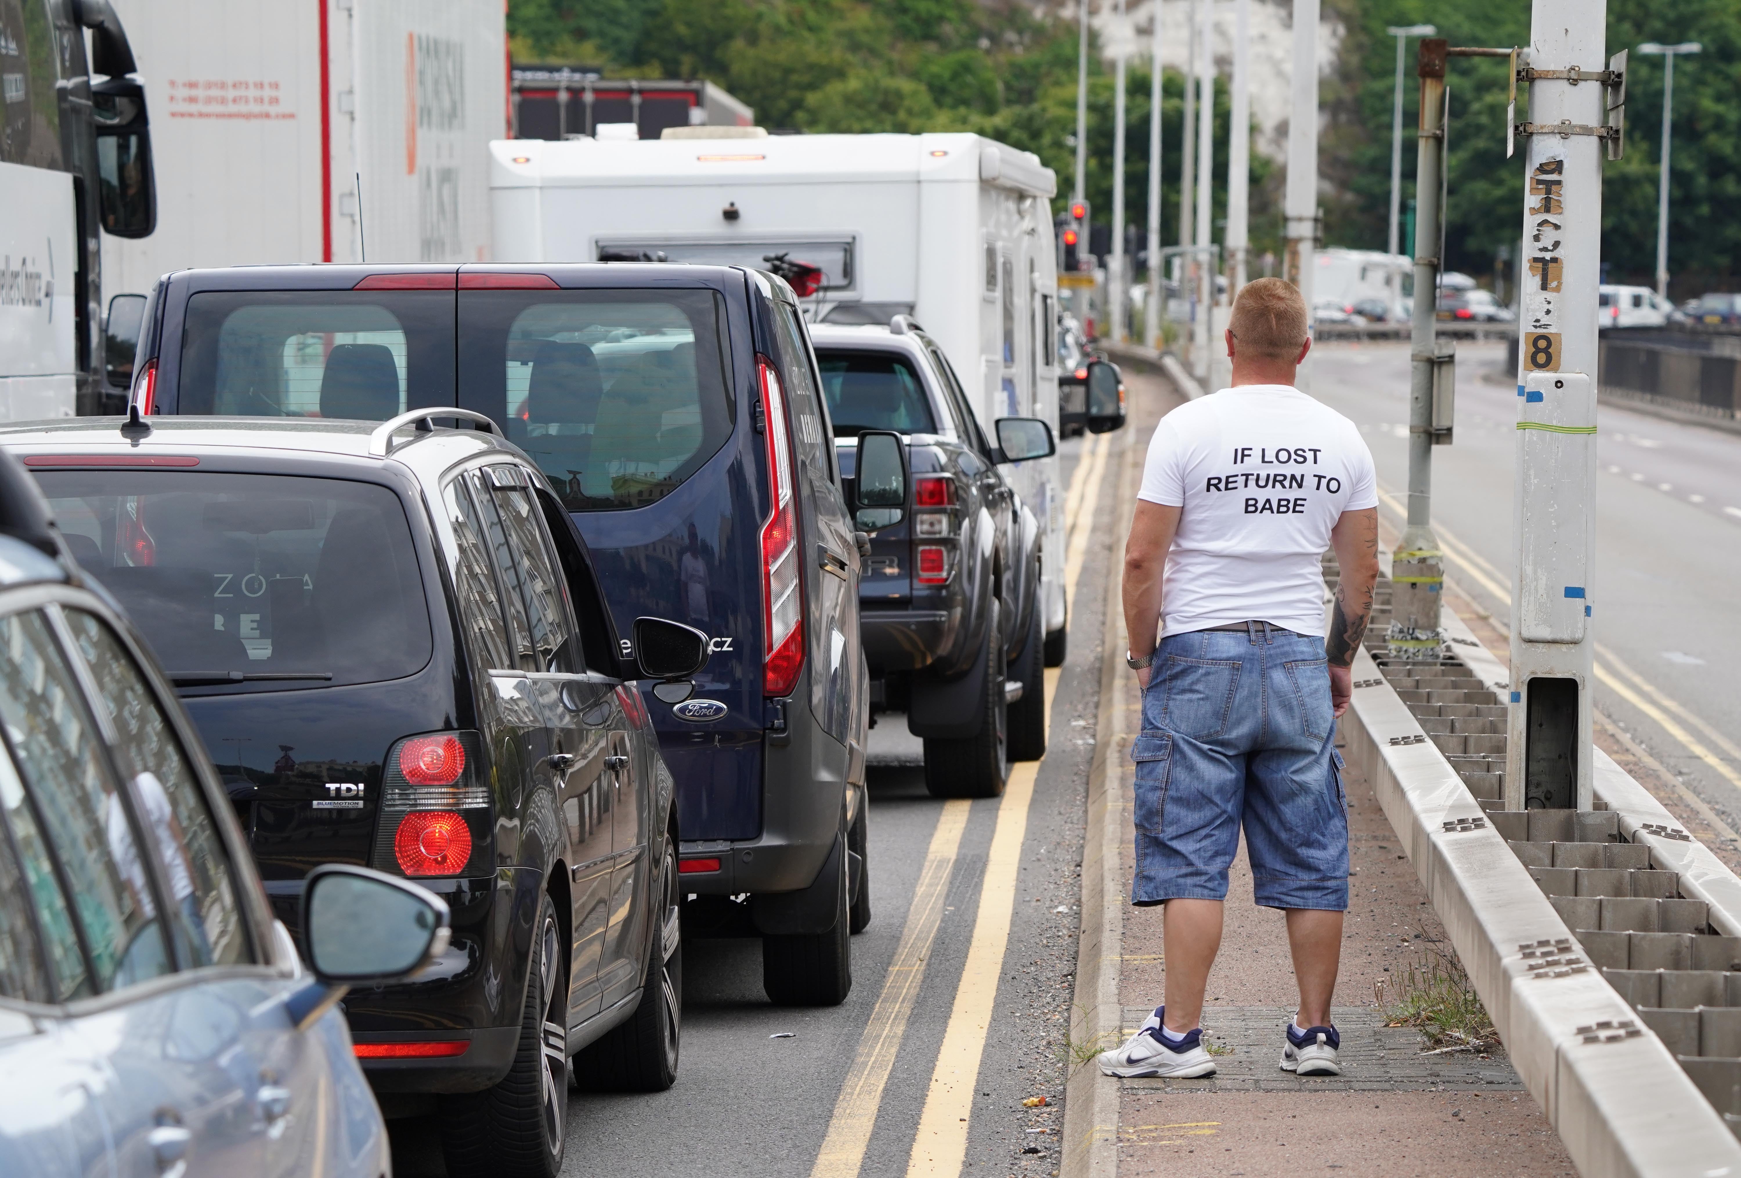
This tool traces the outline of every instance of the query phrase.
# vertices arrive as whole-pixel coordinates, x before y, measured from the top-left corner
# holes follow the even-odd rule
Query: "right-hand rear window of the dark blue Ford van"
[[[460,404],[569,511],[644,507],[731,436],[723,321],[705,289],[461,291]]]

